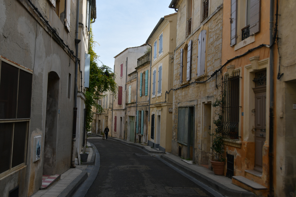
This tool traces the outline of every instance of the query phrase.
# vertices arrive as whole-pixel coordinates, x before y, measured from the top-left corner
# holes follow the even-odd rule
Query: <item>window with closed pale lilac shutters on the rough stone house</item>
[[[205,47],[206,47],[206,30],[202,30],[198,36],[197,46],[197,76],[205,74]]]

